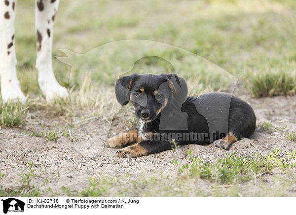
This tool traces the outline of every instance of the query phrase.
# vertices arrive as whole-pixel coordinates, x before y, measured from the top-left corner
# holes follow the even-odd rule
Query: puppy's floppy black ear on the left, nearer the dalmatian
[[[115,95],[120,105],[126,105],[130,101],[130,89],[138,74],[122,76],[115,82]]]

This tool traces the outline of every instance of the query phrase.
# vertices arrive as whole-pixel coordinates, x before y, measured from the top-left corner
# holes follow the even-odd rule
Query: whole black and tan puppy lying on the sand
[[[169,150],[172,140],[228,149],[254,133],[255,113],[246,102],[226,93],[187,93],[184,78],[176,74],[122,76],[115,83],[116,99],[121,105],[131,101],[139,124],[108,139],[106,146],[124,147],[118,157],[138,157]]]

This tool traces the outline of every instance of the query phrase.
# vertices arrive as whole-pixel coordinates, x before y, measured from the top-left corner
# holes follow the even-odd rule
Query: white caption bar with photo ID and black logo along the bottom
[[[0,197],[0,214],[291,214],[295,198],[18,198]],[[275,207],[276,206],[276,207]]]

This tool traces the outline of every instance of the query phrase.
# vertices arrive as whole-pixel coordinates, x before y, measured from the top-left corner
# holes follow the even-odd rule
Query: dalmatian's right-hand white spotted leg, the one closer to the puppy
[[[46,100],[55,96],[68,96],[67,89],[56,80],[52,69],[52,37],[55,14],[59,0],[35,1],[35,24],[37,38],[37,59],[39,87]]]

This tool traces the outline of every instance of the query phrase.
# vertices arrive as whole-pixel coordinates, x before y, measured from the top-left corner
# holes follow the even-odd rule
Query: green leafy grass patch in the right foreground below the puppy
[[[288,157],[279,159],[280,150],[275,148],[267,156],[261,154],[248,156],[238,156],[237,152],[226,153],[224,158],[216,156],[217,162],[208,163],[202,159],[191,155],[188,151],[191,164],[179,165],[177,160],[173,164],[178,167],[178,171],[183,173],[187,171],[190,177],[210,179],[220,183],[238,183],[255,179],[256,177],[268,174],[275,166],[293,168],[293,165],[287,163],[288,160],[296,157],[296,150],[288,154]]]

